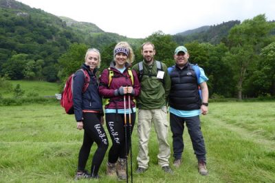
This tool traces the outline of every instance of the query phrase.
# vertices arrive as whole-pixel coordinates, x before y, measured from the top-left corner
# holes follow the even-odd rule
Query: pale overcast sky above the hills
[[[95,23],[104,32],[146,38],[162,30],[177,34],[203,25],[244,21],[265,14],[275,20],[274,0],[19,0],[56,16]]]

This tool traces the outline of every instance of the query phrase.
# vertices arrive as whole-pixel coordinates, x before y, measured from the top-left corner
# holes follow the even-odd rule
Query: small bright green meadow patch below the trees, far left
[[[28,93],[38,93],[39,97],[54,96],[55,93],[60,93],[57,83],[39,82],[39,81],[27,81],[27,80],[11,80],[12,87],[20,84],[22,90],[25,90],[24,96]],[[3,93],[3,97],[12,97],[12,91],[10,93]]]

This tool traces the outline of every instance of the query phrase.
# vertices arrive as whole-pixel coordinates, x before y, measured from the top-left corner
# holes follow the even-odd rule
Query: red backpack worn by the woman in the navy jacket
[[[83,71],[85,75],[85,84],[83,85],[83,89],[82,89],[82,92],[85,93],[90,82],[89,73],[84,69],[79,69],[78,71]],[[73,102],[74,75],[75,74],[72,74],[69,76],[64,86],[64,90],[61,93],[61,106],[65,108],[65,111],[67,114],[74,114],[74,102]]]

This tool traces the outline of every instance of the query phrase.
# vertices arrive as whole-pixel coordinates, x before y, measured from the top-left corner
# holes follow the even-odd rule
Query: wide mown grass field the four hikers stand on
[[[165,174],[157,165],[157,138],[152,130],[149,169],[142,175],[134,172],[133,182],[275,182],[275,102],[210,103],[209,108],[208,115],[201,117],[209,175],[197,173],[186,130],[183,164],[179,169],[172,166],[173,175]],[[0,182],[74,182],[83,138],[74,116],[65,114],[58,104],[0,107],[0,116]],[[170,145],[171,136],[170,132]],[[135,171],[136,127],[132,143]],[[106,160],[100,167],[102,178],[96,182],[117,182],[106,177]],[[91,156],[87,169],[90,162]]]

